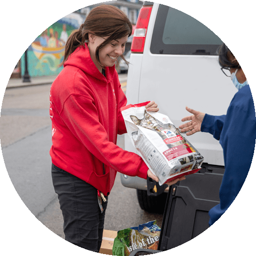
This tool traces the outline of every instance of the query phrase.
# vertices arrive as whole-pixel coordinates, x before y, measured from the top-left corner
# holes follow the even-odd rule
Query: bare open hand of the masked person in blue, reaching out
[[[201,131],[201,125],[203,122],[203,119],[205,117],[205,113],[193,110],[189,107],[186,107],[186,110],[190,112],[193,115],[186,116],[181,119],[182,122],[189,121],[184,125],[180,125],[179,129],[181,132],[186,132],[186,135],[192,135],[198,131]]]

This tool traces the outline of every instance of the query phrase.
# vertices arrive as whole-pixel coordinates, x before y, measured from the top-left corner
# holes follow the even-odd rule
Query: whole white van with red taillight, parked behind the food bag
[[[126,96],[128,104],[155,101],[159,113],[176,128],[190,115],[186,106],[224,115],[237,92],[218,64],[222,41],[209,28],[179,10],[144,1],[131,45]],[[187,137],[204,156],[203,165],[224,168],[222,148],[208,133]],[[136,153],[125,135],[125,150]],[[147,195],[147,181],[121,175],[124,186],[137,189],[143,210],[163,213],[167,193]]]

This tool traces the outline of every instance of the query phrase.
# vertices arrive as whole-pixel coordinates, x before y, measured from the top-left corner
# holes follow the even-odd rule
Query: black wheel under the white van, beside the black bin
[[[168,193],[164,192],[158,196],[148,196],[146,190],[137,189],[137,197],[141,209],[150,213],[164,213],[167,194]]]

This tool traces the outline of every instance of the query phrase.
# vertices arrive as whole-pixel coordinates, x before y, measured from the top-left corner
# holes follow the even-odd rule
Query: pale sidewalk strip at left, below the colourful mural
[[[56,77],[57,75],[43,76],[43,77],[30,77],[30,82],[23,82],[23,78],[10,78],[6,89],[32,86],[32,85],[51,84]]]

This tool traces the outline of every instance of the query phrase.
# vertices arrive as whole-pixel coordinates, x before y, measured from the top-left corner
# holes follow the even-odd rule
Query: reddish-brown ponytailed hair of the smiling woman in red
[[[131,32],[132,25],[128,17],[117,7],[113,5],[100,5],[95,7],[88,14],[84,24],[82,24],[79,29],[75,30],[67,39],[62,64],[64,64],[69,55],[74,52],[78,46],[85,44],[86,40],[89,39],[89,33],[98,37],[108,37],[97,47],[95,52],[96,60],[100,63],[99,50],[113,40],[118,40],[127,35],[130,36]],[[126,62],[123,55],[121,55],[121,58]]]

